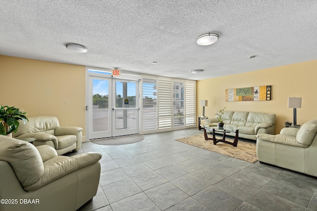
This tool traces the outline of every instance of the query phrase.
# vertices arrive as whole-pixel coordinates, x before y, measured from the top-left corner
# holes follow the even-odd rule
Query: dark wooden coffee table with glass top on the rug
[[[209,138],[207,135],[207,130],[210,132],[212,131],[212,138]],[[215,132],[221,132],[222,133],[222,139],[217,139],[215,136]],[[235,138],[233,142],[226,141],[226,133],[235,133]],[[239,138],[239,130],[230,126],[224,126],[224,127],[204,127],[204,135],[205,135],[205,140],[212,140],[213,144],[216,145],[218,142],[223,142],[226,144],[230,144],[234,147],[237,147],[238,145],[238,138]]]

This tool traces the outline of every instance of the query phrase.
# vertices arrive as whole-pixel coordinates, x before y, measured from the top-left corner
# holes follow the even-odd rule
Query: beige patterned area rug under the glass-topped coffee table
[[[220,136],[218,138],[220,138]],[[233,138],[230,137],[226,137],[226,140],[233,142]],[[238,141],[237,147],[222,142],[213,145],[212,140],[205,140],[204,134],[176,139],[176,141],[252,163],[258,160],[256,144]]]

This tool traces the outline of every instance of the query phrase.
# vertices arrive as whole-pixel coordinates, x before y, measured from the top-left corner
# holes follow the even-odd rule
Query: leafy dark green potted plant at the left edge
[[[24,124],[29,121],[25,115],[26,112],[14,106],[0,105],[0,135],[12,136],[12,132],[16,133],[19,127],[18,120],[22,120]]]

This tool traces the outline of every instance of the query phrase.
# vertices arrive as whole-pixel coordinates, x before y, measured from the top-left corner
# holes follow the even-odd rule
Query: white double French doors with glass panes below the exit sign
[[[139,81],[89,75],[89,139],[139,133]]]

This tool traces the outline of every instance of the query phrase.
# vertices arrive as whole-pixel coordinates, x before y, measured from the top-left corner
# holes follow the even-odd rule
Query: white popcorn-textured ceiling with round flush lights
[[[218,42],[198,46],[196,37],[209,32]],[[316,35],[317,0],[0,3],[2,55],[192,80],[317,59]],[[72,53],[68,43],[88,53]]]

